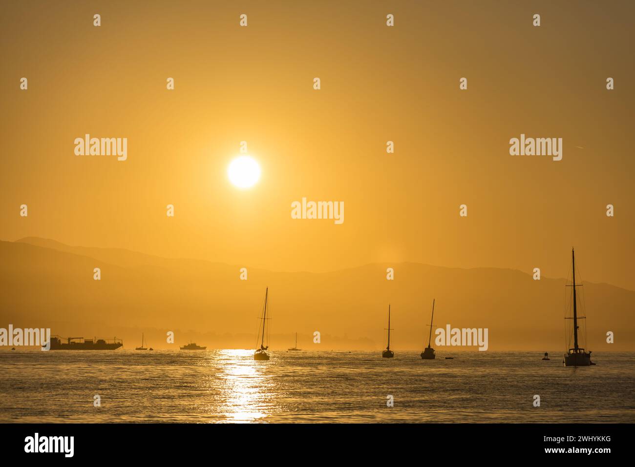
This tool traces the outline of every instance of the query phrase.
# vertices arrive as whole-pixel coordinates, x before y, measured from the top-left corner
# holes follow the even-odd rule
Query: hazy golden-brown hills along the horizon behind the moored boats
[[[166,331],[177,333],[177,344],[198,339],[211,348],[249,348],[267,286],[272,348],[291,346],[297,331],[302,348],[377,350],[385,345],[391,303],[392,346],[416,350],[427,336],[432,298],[436,327],[488,327],[490,350],[565,346],[565,279],[535,281],[516,270],[401,263],[269,272],[37,238],[0,242],[0,257],[0,327],[116,335],[126,348],[140,343],[142,330],[154,348],[168,348]],[[248,280],[239,280],[243,266]],[[392,281],[386,280],[388,266],[395,270]],[[93,280],[95,267],[101,268],[100,281]],[[588,282],[583,291],[587,346],[594,352],[635,350],[635,293]],[[312,342],[314,331],[321,332],[320,345]],[[606,344],[607,331],[615,332],[615,344]]]

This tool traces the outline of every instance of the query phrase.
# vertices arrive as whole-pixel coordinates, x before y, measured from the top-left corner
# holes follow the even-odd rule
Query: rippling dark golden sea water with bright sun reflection
[[[635,422],[633,352],[578,368],[563,367],[563,352],[418,353],[3,351],[0,421]]]

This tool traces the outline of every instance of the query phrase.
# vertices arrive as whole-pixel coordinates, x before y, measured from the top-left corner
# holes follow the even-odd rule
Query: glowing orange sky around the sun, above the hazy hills
[[[632,3],[33,7],[0,5],[3,240],[547,277],[575,246],[583,279],[635,289]],[[128,160],[74,155],[85,133],[128,138]],[[521,133],[563,138],[563,160],[509,155]],[[243,140],[262,178],[239,191],[226,169]],[[344,201],[344,223],[291,219],[302,197]]]

